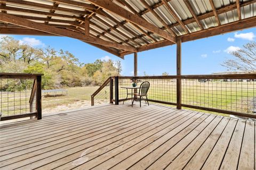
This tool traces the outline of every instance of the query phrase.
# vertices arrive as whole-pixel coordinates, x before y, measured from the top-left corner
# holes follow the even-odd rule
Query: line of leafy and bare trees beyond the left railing
[[[84,64],[62,49],[35,48],[9,36],[0,41],[0,72],[42,73],[43,89],[99,86],[121,71],[121,61],[96,60]]]

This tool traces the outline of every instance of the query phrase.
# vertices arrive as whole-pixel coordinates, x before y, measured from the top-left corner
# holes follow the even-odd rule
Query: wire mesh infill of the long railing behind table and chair
[[[236,113],[256,113],[256,80],[246,79],[242,75],[237,78],[221,79],[218,75],[210,75],[210,79],[202,79],[202,76],[183,76],[181,79],[181,105],[184,107],[201,107],[212,112],[230,111]],[[207,77],[207,75],[204,75]],[[233,75],[234,77],[234,75]],[[251,77],[251,75],[250,75]],[[178,105],[177,104],[177,78],[169,77],[119,77],[118,99],[130,100],[134,92],[139,89],[131,89],[132,83],[140,87],[142,82],[148,81],[150,88],[148,99],[151,102]],[[113,100],[115,100],[115,79],[113,78]],[[97,96],[101,103],[109,103],[109,83]],[[207,109],[208,108],[208,109]],[[228,114],[230,114],[228,112]],[[227,113],[227,112],[222,112]]]

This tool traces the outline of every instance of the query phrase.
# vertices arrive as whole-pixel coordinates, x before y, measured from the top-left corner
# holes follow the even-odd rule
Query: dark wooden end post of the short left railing
[[[36,76],[36,112],[37,120],[42,119],[42,91],[41,91],[42,75]]]

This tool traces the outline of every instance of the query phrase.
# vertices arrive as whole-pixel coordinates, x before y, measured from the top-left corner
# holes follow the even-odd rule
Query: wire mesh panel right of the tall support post
[[[182,79],[182,104],[252,114],[255,88],[249,79]]]

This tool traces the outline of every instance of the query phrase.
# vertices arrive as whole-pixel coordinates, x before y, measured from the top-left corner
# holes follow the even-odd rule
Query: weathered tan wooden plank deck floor
[[[255,122],[105,105],[1,125],[1,169],[255,169]]]

